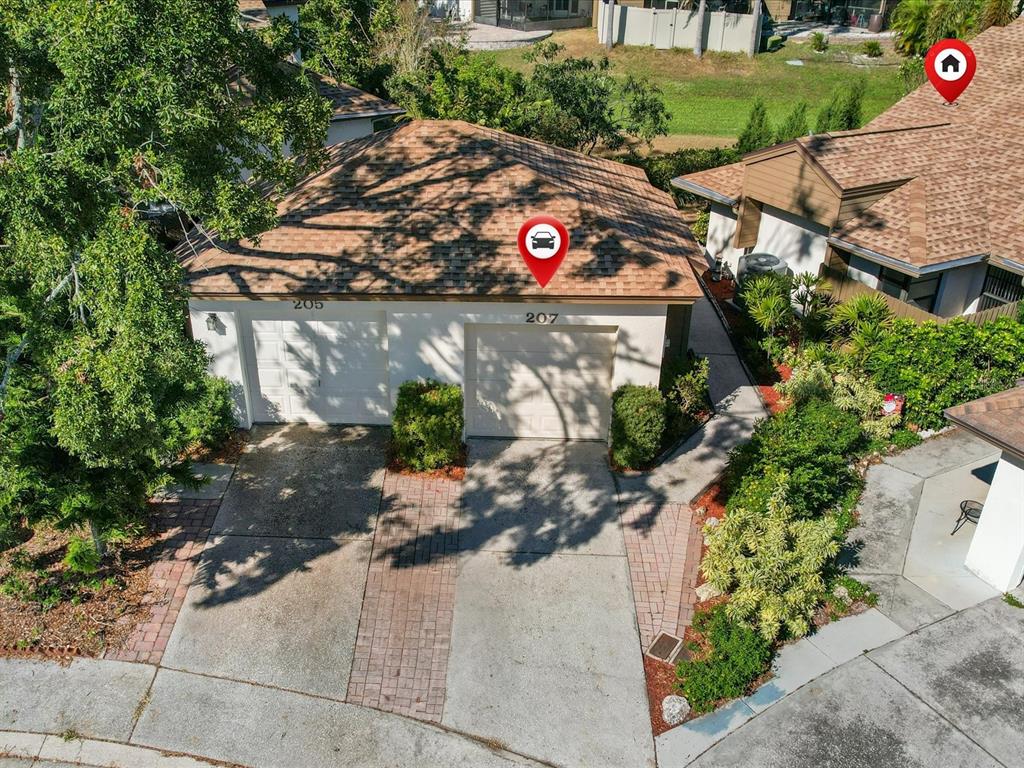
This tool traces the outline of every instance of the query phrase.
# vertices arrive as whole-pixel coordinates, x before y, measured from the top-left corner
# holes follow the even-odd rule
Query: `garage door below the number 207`
[[[466,431],[604,439],[615,329],[466,327]]]

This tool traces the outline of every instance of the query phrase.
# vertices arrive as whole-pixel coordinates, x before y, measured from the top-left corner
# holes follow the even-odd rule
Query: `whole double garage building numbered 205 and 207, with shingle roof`
[[[386,424],[398,386],[463,385],[469,435],[604,439],[612,390],[686,350],[699,253],[640,169],[462,122],[330,150],[258,243],[179,246],[195,338],[243,425]],[[526,219],[570,232],[542,289]]]

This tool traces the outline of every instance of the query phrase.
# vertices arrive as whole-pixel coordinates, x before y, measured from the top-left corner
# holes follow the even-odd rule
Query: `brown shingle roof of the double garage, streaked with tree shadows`
[[[195,294],[477,298],[700,295],[699,248],[643,171],[462,122],[415,121],[330,147],[259,243],[179,247]],[[546,289],[516,247],[538,214],[569,229]],[[193,252],[195,248],[195,252]]]

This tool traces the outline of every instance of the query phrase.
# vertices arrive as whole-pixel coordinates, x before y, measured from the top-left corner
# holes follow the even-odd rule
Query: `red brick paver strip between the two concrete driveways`
[[[439,722],[462,483],[388,472],[346,700]]]

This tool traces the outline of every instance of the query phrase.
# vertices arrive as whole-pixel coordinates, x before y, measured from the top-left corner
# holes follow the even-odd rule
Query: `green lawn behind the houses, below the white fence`
[[[564,45],[566,53],[601,56],[594,30],[556,32],[551,38]],[[503,63],[520,70],[530,65],[522,60],[523,49],[498,51]],[[856,46],[833,45],[826,53],[810,46],[787,43],[774,53],[761,53],[753,60],[744,54],[708,53],[702,60],[690,50],[655,50],[618,47],[611,53],[614,72],[642,75],[657,83],[672,113],[670,131],[674,136],[657,142],[659,148],[685,144],[723,143],[738,135],[746,122],[751,103],[761,96],[768,103],[769,117],[779,121],[800,99],[811,104],[812,118],[837,86],[863,78],[867,83],[864,120],[870,120],[902,95],[897,74],[898,59],[887,51],[882,63],[857,67],[849,57]],[[787,65],[800,59],[802,67]],[[707,138],[701,138],[707,137]]]

